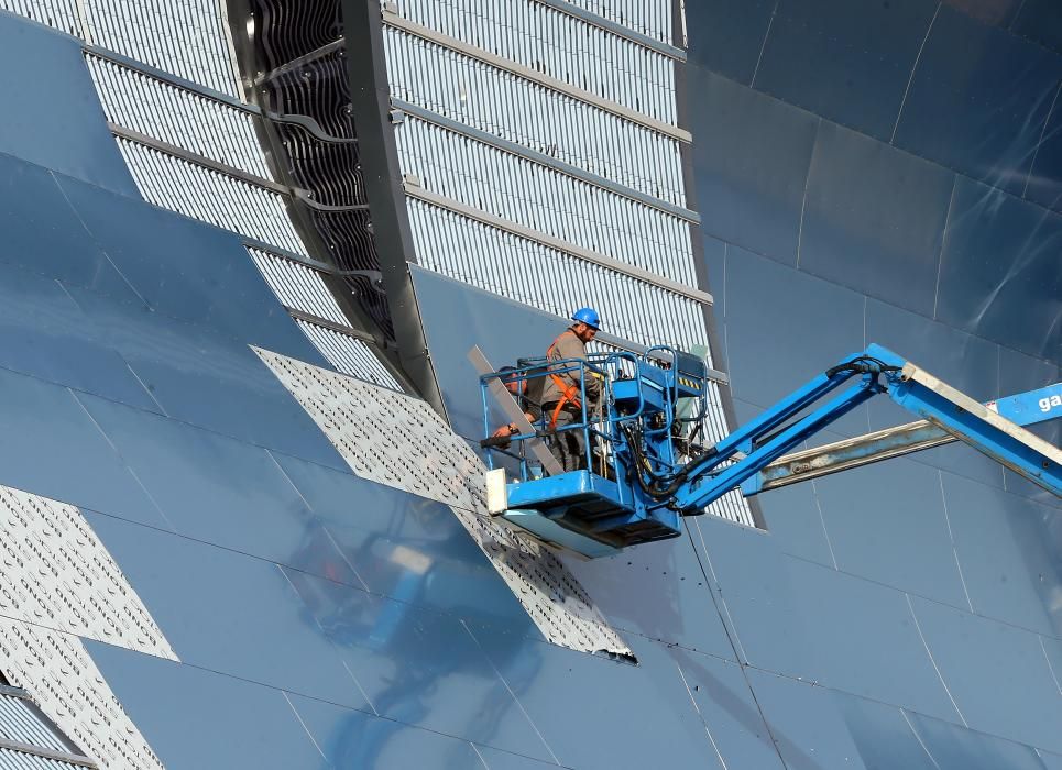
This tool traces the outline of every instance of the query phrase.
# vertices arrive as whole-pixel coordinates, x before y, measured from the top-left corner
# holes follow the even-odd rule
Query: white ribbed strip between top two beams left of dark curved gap
[[[85,58],[109,121],[273,179],[250,112],[91,54]]]

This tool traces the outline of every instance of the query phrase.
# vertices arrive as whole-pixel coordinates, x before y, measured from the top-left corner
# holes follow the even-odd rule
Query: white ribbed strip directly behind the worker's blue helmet
[[[406,206],[424,267],[561,318],[589,301],[611,333],[646,346],[704,344],[692,299],[414,198]]]

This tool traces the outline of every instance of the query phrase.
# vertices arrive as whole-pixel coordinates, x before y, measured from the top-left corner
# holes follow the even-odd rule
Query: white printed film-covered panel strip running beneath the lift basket
[[[631,654],[551,552],[496,524],[483,464],[424,402],[255,348],[362,479],[450,506],[549,641]]]

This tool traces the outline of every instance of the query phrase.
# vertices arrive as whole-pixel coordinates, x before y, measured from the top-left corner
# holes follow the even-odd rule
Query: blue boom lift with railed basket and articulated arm
[[[1062,417],[1062,383],[979,404],[891,351],[872,344],[826,370],[714,446],[702,443],[710,373],[694,356],[656,348],[643,355],[613,353],[554,365],[604,378],[602,403],[565,430],[583,431],[587,470],[562,472],[545,442],[502,384],[521,383],[532,402],[546,376],[543,360],[523,360],[515,373],[491,372],[478,349],[485,433],[486,394],[521,432],[507,447],[481,443],[488,462],[491,514],[539,540],[595,558],[681,534],[680,519],[732,490],[749,496],[867,463],[959,440],[1056,496],[1062,496],[1062,451],[1022,426]],[[822,399],[854,381],[846,391]],[[878,394],[921,418],[896,428],[788,454],[842,415]],[[501,460],[504,455],[507,460]],[[506,469],[504,465],[507,465]],[[515,473],[514,473],[515,469]],[[510,476],[515,481],[508,482]]]

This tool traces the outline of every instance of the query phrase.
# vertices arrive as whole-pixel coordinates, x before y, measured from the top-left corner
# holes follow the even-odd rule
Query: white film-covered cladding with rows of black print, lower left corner
[[[101,767],[162,767],[78,639],[177,660],[162,630],[75,506],[0,486],[0,670]]]

